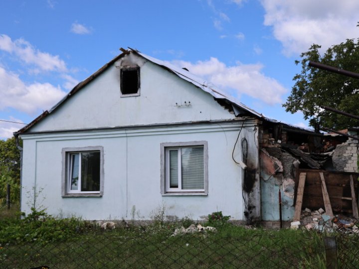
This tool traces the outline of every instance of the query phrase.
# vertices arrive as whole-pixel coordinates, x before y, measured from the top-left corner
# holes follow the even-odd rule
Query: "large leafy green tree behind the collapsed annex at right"
[[[296,61],[302,64],[302,71],[293,78],[295,85],[283,107],[291,113],[302,111],[315,129],[319,126],[337,130],[358,127],[358,120],[325,111],[320,106],[359,115],[359,79],[310,67],[308,63],[314,61],[359,73],[359,39],[333,45],[323,56],[319,48],[320,45],[313,44],[301,54],[302,60]]]

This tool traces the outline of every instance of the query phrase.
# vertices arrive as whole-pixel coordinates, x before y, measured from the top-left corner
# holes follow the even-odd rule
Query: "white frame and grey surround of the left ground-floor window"
[[[81,191],[81,153],[100,152],[100,189]],[[71,190],[72,156],[79,154],[78,190]],[[73,147],[62,149],[62,196],[63,197],[101,197],[104,190],[104,154],[102,146]]]

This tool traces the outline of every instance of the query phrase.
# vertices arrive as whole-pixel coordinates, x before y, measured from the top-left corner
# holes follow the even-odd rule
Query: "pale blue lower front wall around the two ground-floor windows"
[[[66,110],[63,111],[67,113]],[[209,112],[203,114],[210,115]],[[134,118],[140,120],[140,117]],[[36,206],[46,208],[50,214],[61,214],[64,217],[75,215],[88,220],[134,217],[138,220],[148,220],[151,219],[152,213],[164,204],[166,215],[179,218],[188,216],[200,220],[211,212],[223,211],[224,215],[230,215],[234,220],[242,220],[245,210],[242,201],[243,172],[232,160],[233,147],[241,128],[242,122],[238,121],[161,128],[21,135],[24,147],[21,210],[30,212],[33,195],[29,193],[33,186],[36,186]],[[249,154],[256,156],[252,161],[258,164],[255,121],[246,121],[243,124],[238,141],[244,137],[248,141]],[[199,140],[208,143],[208,195],[162,195],[160,144]],[[236,158],[241,156],[239,144],[238,142],[236,145]],[[62,197],[61,151],[67,147],[86,146],[103,146],[103,196]],[[30,192],[27,193],[28,191]],[[257,206],[257,211],[260,211],[259,203],[260,199],[258,204],[254,205]],[[135,216],[131,215],[133,208],[136,208]]]

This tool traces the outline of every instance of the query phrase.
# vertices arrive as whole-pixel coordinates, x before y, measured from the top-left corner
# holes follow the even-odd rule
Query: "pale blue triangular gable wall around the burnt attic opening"
[[[30,132],[235,118],[208,93],[149,61],[140,69],[140,96],[120,97],[120,70],[116,64],[68,98]]]

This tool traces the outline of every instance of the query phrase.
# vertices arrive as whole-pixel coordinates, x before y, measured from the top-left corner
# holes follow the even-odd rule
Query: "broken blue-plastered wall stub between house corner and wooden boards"
[[[299,162],[279,147],[260,150],[261,209],[263,221],[279,221],[279,190],[282,200],[282,220],[294,216],[296,167]]]

